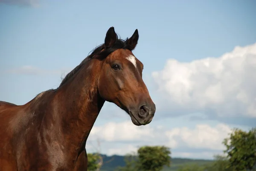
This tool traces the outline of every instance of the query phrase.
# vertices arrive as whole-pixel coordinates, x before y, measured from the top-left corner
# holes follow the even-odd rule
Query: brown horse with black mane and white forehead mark
[[[149,124],[156,106],[132,53],[138,39],[137,29],[122,40],[110,27],[58,88],[23,105],[1,101],[0,171],[87,171],[86,141],[105,101]]]

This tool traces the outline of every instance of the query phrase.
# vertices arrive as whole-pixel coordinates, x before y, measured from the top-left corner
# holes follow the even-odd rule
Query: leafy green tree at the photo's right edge
[[[256,164],[256,128],[249,132],[234,129],[230,137],[224,139],[230,166],[236,171],[252,170]]]

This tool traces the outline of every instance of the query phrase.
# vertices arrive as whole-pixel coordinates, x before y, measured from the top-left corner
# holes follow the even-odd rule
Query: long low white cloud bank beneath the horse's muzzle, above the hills
[[[224,124],[213,127],[199,124],[192,129],[175,127],[166,130],[160,126],[152,127],[150,124],[137,127],[131,121],[110,122],[102,126],[94,126],[88,142],[96,139],[102,141],[101,148],[103,151],[101,153],[108,155],[125,155],[136,152],[137,148],[143,145],[166,145],[171,148],[174,157],[209,159],[216,153],[222,153],[224,149],[222,141],[230,131],[231,128]],[[90,144],[86,148],[88,151],[95,149],[90,149]]]

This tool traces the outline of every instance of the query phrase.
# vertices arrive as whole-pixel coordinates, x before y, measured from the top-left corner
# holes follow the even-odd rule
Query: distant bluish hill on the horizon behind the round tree
[[[125,166],[124,156],[106,156],[103,155],[103,166],[100,171],[114,171],[118,166]],[[163,171],[175,171],[179,166],[185,164],[199,164],[204,165],[213,162],[213,160],[204,160],[204,159],[183,159],[183,158],[172,158],[171,159],[171,168],[165,168]]]

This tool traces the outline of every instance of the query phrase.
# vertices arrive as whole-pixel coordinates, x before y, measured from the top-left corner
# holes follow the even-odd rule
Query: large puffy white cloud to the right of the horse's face
[[[235,47],[219,58],[188,63],[169,59],[153,72],[158,91],[172,111],[256,118],[256,43]],[[168,104],[166,104],[168,103]],[[182,113],[182,112],[181,112]]]

